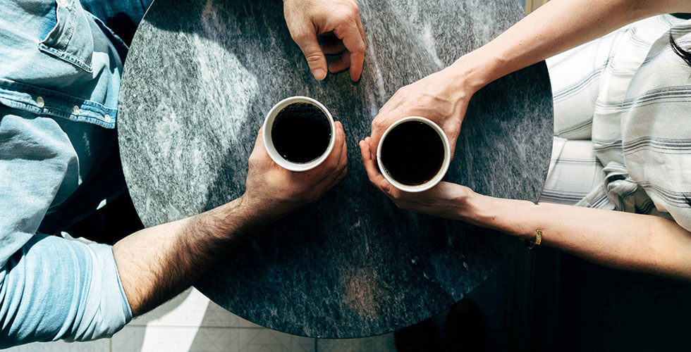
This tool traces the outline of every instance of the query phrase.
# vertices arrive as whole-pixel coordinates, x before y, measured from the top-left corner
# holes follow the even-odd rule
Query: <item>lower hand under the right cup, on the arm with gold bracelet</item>
[[[470,188],[451,182],[439,182],[435,187],[419,193],[401,191],[386,181],[377,169],[374,153],[369,149],[369,137],[360,141],[360,155],[367,170],[369,182],[393,201],[398,208],[453,220],[470,220],[470,199],[475,195]]]

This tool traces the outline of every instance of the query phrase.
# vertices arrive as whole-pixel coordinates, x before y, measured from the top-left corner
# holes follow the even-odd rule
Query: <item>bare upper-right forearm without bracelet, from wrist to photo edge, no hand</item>
[[[458,59],[451,72],[475,90],[499,77],[661,13],[691,12],[685,0],[552,0],[482,48]]]

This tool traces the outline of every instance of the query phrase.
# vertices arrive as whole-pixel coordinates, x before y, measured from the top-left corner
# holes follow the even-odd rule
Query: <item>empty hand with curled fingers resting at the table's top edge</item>
[[[324,54],[340,54],[329,64],[329,72],[350,68],[350,79],[360,80],[367,46],[355,1],[283,0],[283,15],[291,37],[307,58],[314,78],[324,80],[326,77]],[[322,43],[317,36],[322,36]]]

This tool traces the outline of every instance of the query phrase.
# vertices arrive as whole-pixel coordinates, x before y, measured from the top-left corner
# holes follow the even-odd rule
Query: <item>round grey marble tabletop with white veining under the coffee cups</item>
[[[311,96],[343,122],[348,177],[314,206],[232,253],[195,286],[247,320],[310,337],[390,332],[439,313],[501,265],[515,239],[399,210],[369,184],[357,142],[396,89],[515,23],[515,0],[360,1],[365,71],[312,79],[280,1],[157,0],[135,35],[118,134],[130,194],[147,226],[243,193],[269,108]],[[470,102],[446,180],[536,201],[551,150],[544,63]]]

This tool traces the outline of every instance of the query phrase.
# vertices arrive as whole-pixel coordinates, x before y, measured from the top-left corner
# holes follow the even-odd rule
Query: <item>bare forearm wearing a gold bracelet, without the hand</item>
[[[612,268],[691,280],[691,233],[672,220],[612,210],[472,196],[463,218]]]

